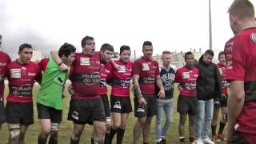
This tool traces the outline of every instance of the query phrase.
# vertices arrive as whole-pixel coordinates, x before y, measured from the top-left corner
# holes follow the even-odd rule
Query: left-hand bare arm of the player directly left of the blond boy
[[[142,91],[138,84],[139,75],[133,75],[133,84],[134,84],[134,94],[135,97],[138,98],[138,103],[146,105],[146,100],[142,97]]]

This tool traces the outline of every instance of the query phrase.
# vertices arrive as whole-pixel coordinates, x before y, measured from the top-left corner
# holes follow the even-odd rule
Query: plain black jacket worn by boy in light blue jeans
[[[199,59],[197,66],[199,70],[197,80],[198,100],[220,98],[222,89],[218,67],[213,62],[210,64],[202,62],[202,57]]]

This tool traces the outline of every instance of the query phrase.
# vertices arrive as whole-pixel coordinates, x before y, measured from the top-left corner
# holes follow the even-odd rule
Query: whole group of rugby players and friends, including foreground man
[[[86,124],[93,126],[92,144],[110,144],[115,135],[116,143],[121,144],[132,111],[137,118],[134,144],[138,143],[141,134],[143,144],[149,143],[154,116],[155,142],[172,143],[166,141],[166,134],[173,119],[175,86],[179,92],[180,143],[186,143],[187,117],[188,139],[192,144],[256,143],[254,6],[248,0],[235,0],[229,14],[234,37],[226,42],[224,51],[218,53],[218,64],[212,62],[213,50],[206,50],[198,60],[189,51],[184,54],[185,65],[177,69],[171,65],[171,52],[164,50],[159,66],[150,41],[143,42],[143,56],[134,62],[130,61],[130,46],[126,45],[120,47],[120,58],[114,60],[114,47],[105,43],[95,51],[95,41],[90,36],[82,38],[81,53],[76,53],[72,44],[64,43],[58,51],[50,52],[50,58],[43,58],[38,63],[30,61],[33,46],[28,43],[19,46],[19,57],[14,61],[0,51],[0,126],[4,122],[8,124],[8,143],[25,143],[26,130],[34,123],[32,89],[35,82],[41,86],[36,98],[42,127],[38,144],[58,143],[67,79],[71,82],[67,119],[73,122],[70,144],[79,143]],[[1,35],[0,42],[1,46]],[[6,106],[3,97],[5,78],[9,82]],[[217,133],[219,110],[222,118]],[[227,135],[224,135],[226,124]]]

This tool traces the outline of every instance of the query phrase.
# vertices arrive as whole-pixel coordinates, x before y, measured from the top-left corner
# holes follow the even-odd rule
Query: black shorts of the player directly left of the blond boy
[[[134,98],[134,116],[153,117],[157,114],[157,100],[154,94],[142,94],[146,99],[146,106],[138,104],[138,98]]]

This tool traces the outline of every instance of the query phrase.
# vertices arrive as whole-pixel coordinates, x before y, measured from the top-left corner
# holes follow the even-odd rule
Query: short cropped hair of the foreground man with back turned
[[[237,16],[240,20],[244,18],[255,18],[254,5],[248,0],[235,0],[228,11],[231,15]]]

